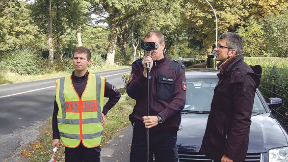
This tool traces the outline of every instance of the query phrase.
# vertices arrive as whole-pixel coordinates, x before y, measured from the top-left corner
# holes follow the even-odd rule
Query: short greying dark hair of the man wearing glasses
[[[226,39],[226,44],[228,47],[236,50],[236,54],[243,53],[243,39],[237,33],[227,32],[220,35],[220,40]]]

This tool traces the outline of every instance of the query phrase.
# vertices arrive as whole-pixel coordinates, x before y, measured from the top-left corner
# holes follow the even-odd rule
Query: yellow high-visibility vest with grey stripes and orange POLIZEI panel
[[[102,111],[105,77],[91,74],[79,98],[71,76],[56,80],[57,114],[61,140],[66,147],[78,147],[82,141],[87,148],[100,145],[103,127]]]

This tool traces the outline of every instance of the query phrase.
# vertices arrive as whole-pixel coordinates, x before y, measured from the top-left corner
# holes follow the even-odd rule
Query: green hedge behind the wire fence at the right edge
[[[288,100],[287,100],[287,78],[288,78],[288,58],[277,57],[244,57],[244,61],[248,65],[262,66],[262,77],[259,89],[263,94],[266,102],[269,98],[277,97],[283,100],[283,105],[271,108],[272,112],[281,120],[286,129],[288,128]],[[273,75],[273,66],[276,66]],[[274,88],[273,88],[274,85]],[[274,92],[273,92],[274,89]]]

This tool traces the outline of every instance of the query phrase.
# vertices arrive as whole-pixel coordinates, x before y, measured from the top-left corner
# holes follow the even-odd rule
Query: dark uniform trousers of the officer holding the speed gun
[[[134,124],[130,162],[147,162],[146,128]],[[177,131],[149,130],[149,162],[178,162]]]

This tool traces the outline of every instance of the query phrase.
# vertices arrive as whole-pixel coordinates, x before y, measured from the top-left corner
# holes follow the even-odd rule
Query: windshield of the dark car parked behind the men
[[[209,113],[217,78],[187,79],[186,103],[182,112]],[[255,95],[252,116],[265,113],[258,94]]]

